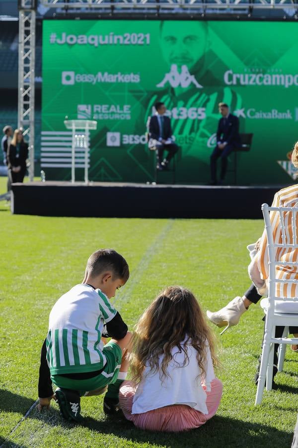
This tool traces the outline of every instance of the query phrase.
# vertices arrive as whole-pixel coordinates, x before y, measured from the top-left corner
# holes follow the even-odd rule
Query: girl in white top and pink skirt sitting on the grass
[[[133,336],[132,381],[120,389],[125,417],[143,430],[199,428],[218,410],[214,337],[194,295],[180,286],[161,292]]]

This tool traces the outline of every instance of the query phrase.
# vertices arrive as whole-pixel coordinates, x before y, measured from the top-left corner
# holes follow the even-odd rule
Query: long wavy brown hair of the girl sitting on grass
[[[135,327],[131,355],[133,383],[137,384],[142,380],[145,366],[149,366],[151,373],[160,370],[161,381],[169,376],[167,366],[172,360],[172,349],[175,346],[180,352],[184,352],[183,366],[187,365],[187,343],[197,350],[197,360],[204,378],[206,341],[209,343],[213,365],[218,367],[215,336],[208,327],[195,296],[181,286],[166,288],[158,294]]]

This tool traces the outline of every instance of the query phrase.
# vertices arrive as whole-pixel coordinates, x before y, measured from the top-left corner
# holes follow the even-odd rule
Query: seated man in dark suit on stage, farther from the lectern
[[[219,110],[223,117],[219,121],[219,126],[216,133],[217,145],[210,158],[211,185],[216,185],[218,183],[216,175],[217,159],[219,157],[222,159],[221,177],[219,182],[222,184],[226,173],[227,157],[233,149],[239,147],[241,144],[238,118],[229,113],[228,105],[225,103],[219,104]]]

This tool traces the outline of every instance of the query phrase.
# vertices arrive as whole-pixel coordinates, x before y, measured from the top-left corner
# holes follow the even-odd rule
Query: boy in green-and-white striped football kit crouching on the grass
[[[109,299],[129,278],[126,260],[99,249],[87,261],[85,277],[54,305],[39,369],[38,409],[54,398],[63,417],[81,421],[80,397],[106,392],[105,414],[119,411],[119,388],[127,376],[131,333]],[[112,339],[101,339],[104,323]],[[53,394],[52,382],[57,386]]]

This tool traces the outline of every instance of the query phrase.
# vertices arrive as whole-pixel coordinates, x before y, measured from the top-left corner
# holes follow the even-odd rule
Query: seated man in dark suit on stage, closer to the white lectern
[[[166,108],[164,103],[155,104],[156,113],[151,116],[149,121],[149,137],[156,141],[156,149],[158,154],[158,170],[166,170],[169,161],[178,151],[178,146],[172,139],[172,128],[170,118],[164,115]],[[163,159],[163,151],[168,151],[165,159]]]

